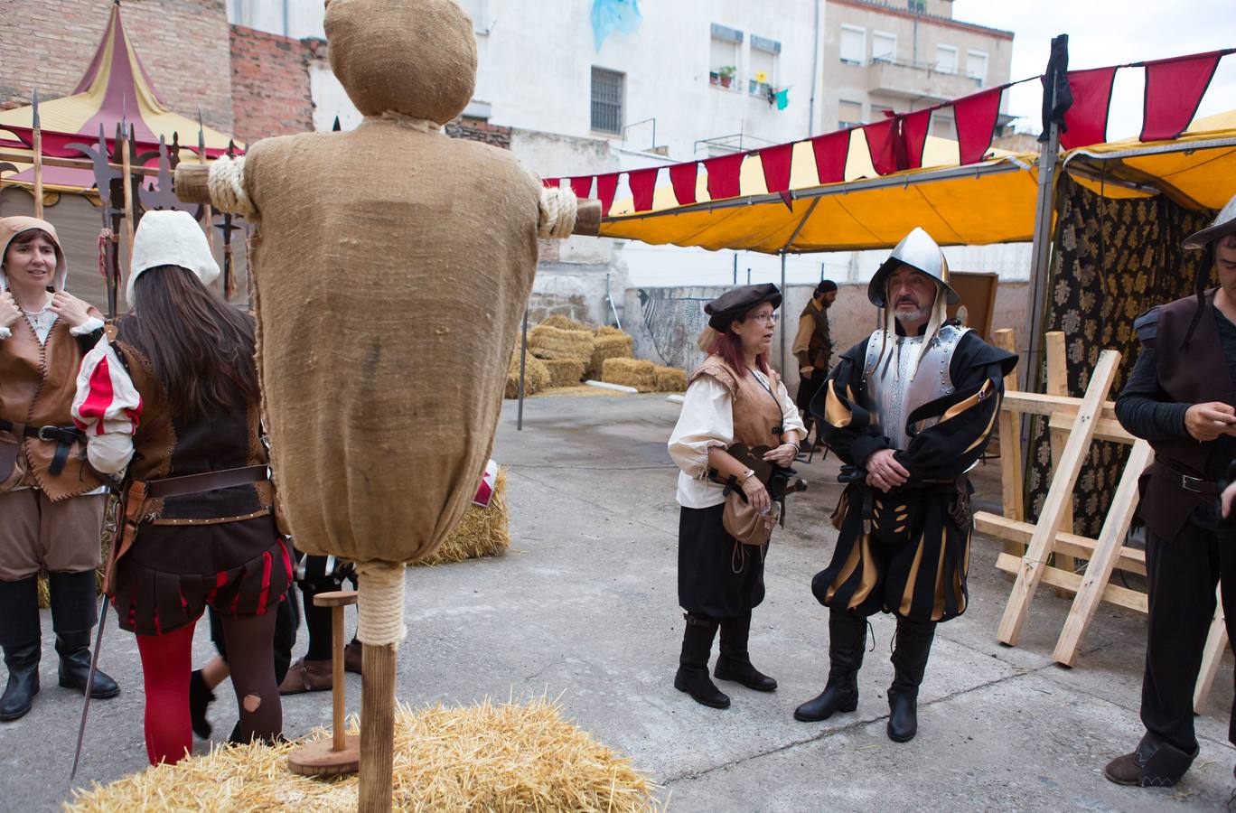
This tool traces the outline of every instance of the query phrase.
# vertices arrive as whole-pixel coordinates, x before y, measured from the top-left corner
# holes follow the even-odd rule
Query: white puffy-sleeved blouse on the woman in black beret
[[[768,376],[753,369],[755,378],[769,387]],[[781,404],[781,425],[796,430],[801,442],[806,435],[798,408],[790,400],[785,384],[777,382],[776,399]],[[726,500],[726,487],[708,479],[708,450],[728,449],[734,442],[734,413],[729,390],[712,376],[700,376],[687,387],[682,414],[670,435],[670,457],[677,463],[676,499],[684,508],[711,508]]]

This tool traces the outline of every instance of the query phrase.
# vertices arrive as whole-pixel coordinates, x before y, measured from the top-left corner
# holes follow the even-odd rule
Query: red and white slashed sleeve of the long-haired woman
[[[142,416],[142,397],[106,336],[78,372],[73,423],[87,436],[87,457],[96,471],[116,474],[133,456],[133,432]]]

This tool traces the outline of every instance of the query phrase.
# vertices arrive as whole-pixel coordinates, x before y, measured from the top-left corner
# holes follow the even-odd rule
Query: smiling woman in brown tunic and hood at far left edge
[[[85,691],[89,678],[106,494],[69,406],[103,319],[64,290],[68,264],[52,224],[0,219],[0,645],[9,667],[0,720],[15,720],[38,693],[40,571],[51,591],[59,685]],[[93,697],[119,692],[95,673]]]

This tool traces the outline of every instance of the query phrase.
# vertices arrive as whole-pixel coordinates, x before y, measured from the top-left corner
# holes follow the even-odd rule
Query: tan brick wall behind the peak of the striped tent
[[[5,0],[0,12],[0,107],[73,93],[99,44],[111,0]],[[224,0],[130,0],[130,42],[176,112],[231,130],[231,73]]]

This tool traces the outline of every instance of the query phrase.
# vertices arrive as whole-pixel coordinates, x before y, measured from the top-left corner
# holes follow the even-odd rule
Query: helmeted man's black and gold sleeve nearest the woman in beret
[[[858,399],[865,357],[866,340],[842,353],[828,381],[811,402],[819,439],[852,466],[863,466],[873,452],[890,447],[878,421]]]

